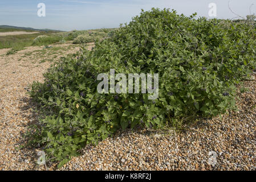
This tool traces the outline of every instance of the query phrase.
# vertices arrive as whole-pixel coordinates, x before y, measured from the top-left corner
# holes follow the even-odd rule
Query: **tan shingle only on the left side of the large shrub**
[[[70,44],[52,47],[68,46]],[[74,53],[78,49],[70,48],[65,53]],[[44,47],[28,47],[13,55],[0,55],[0,170],[38,169],[36,151],[17,150],[23,142],[22,133],[37,118],[31,111],[27,90],[33,81],[43,81],[43,73],[51,64],[42,62],[45,57],[39,57],[38,52],[34,52],[37,50],[44,50]],[[59,60],[59,52],[47,50],[51,53],[48,59]]]

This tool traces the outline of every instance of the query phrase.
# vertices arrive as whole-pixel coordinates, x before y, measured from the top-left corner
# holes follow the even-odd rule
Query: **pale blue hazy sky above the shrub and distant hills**
[[[46,5],[46,16],[38,17],[38,3]],[[92,28],[119,27],[129,23],[132,16],[141,9],[164,7],[178,11],[178,14],[208,16],[209,3],[216,3],[217,18],[234,18],[228,9],[228,0],[1,0],[0,24],[55,30],[87,30]],[[256,13],[256,0],[230,0],[235,13],[245,16]]]

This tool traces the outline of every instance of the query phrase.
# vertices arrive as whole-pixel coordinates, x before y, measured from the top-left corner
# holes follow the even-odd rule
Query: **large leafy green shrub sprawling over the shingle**
[[[246,24],[142,11],[132,22],[52,65],[31,97],[42,118],[31,127],[31,144],[62,166],[79,148],[120,128],[177,127],[191,116],[210,117],[235,106],[235,84],[255,68],[255,30]],[[97,75],[159,73],[159,98],[147,94],[99,94]]]

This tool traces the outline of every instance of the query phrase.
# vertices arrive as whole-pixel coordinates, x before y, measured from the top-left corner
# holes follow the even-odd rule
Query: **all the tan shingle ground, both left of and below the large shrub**
[[[42,81],[42,73],[50,67],[32,56],[21,57],[40,48],[0,56],[1,170],[56,169],[56,164],[38,166],[36,150],[17,149],[23,143],[22,133],[37,119],[27,94],[29,84]],[[247,92],[238,93],[238,111],[222,119],[203,119],[167,135],[146,129],[119,132],[97,146],[87,146],[60,170],[255,170],[255,76],[245,81],[245,87]]]

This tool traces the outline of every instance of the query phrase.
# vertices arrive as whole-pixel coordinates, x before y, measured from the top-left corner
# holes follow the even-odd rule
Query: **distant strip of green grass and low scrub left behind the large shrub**
[[[0,49],[11,48],[7,54],[12,54],[28,46],[48,46],[49,44],[65,43],[72,40],[74,40],[76,44],[95,42],[96,40],[103,40],[103,38],[107,37],[109,32],[113,30],[113,28],[103,28],[98,30],[74,30],[70,32],[42,31],[38,32],[38,34],[0,36]],[[15,28],[0,28],[0,32],[7,31],[21,30]]]

